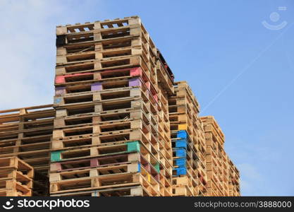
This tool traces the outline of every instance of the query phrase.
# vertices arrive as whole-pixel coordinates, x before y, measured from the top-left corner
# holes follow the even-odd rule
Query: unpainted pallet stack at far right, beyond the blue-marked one
[[[240,196],[238,170],[223,149],[225,137],[212,116],[201,117],[207,143],[207,192],[209,196]]]

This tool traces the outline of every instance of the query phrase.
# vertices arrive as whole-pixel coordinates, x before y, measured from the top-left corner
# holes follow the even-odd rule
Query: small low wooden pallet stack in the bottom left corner
[[[17,157],[0,158],[0,196],[32,196],[32,166]]]

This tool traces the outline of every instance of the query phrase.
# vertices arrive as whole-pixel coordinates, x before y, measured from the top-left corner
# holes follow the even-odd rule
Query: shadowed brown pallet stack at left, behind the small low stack
[[[54,114],[52,105],[0,111],[0,158],[16,156],[34,167],[35,196],[48,194]]]

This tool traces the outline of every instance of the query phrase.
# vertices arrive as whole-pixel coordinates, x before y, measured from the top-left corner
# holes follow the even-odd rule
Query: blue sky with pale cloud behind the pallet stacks
[[[56,25],[137,15],[202,115],[219,122],[242,195],[293,196],[293,9],[290,0],[2,0],[0,110],[52,102]],[[264,20],[287,24],[269,30]]]

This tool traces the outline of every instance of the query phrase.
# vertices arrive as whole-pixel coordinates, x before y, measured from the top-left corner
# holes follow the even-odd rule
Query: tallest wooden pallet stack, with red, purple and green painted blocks
[[[171,196],[173,75],[132,16],[56,28],[51,196]]]

